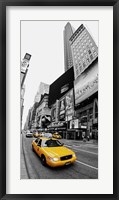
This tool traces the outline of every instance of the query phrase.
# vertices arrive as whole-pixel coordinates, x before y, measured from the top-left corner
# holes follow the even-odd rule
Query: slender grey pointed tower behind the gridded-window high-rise
[[[73,35],[73,28],[68,22],[64,27],[64,66],[65,72],[73,66],[72,52],[69,39]]]

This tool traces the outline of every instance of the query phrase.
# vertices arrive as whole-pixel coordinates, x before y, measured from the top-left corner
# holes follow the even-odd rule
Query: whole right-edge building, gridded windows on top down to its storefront
[[[98,47],[82,24],[71,36],[74,67],[75,118],[82,135],[98,137]],[[77,137],[77,136],[76,136]]]

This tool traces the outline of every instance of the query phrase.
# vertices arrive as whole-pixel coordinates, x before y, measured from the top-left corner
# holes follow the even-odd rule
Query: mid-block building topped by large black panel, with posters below
[[[71,67],[50,85],[51,131],[59,131],[66,138],[67,124],[74,115],[74,69]]]

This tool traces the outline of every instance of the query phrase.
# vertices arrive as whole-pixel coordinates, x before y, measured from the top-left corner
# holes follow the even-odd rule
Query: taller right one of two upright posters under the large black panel
[[[73,89],[66,94],[65,97],[66,102],[66,121],[69,121],[72,119],[74,115],[74,96],[73,96]]]

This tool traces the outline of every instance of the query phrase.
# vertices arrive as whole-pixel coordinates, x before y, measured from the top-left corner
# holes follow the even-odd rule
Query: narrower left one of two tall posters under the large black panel
[[[60,120],[65,121],[65,98],[60,100],[59,118]]]

